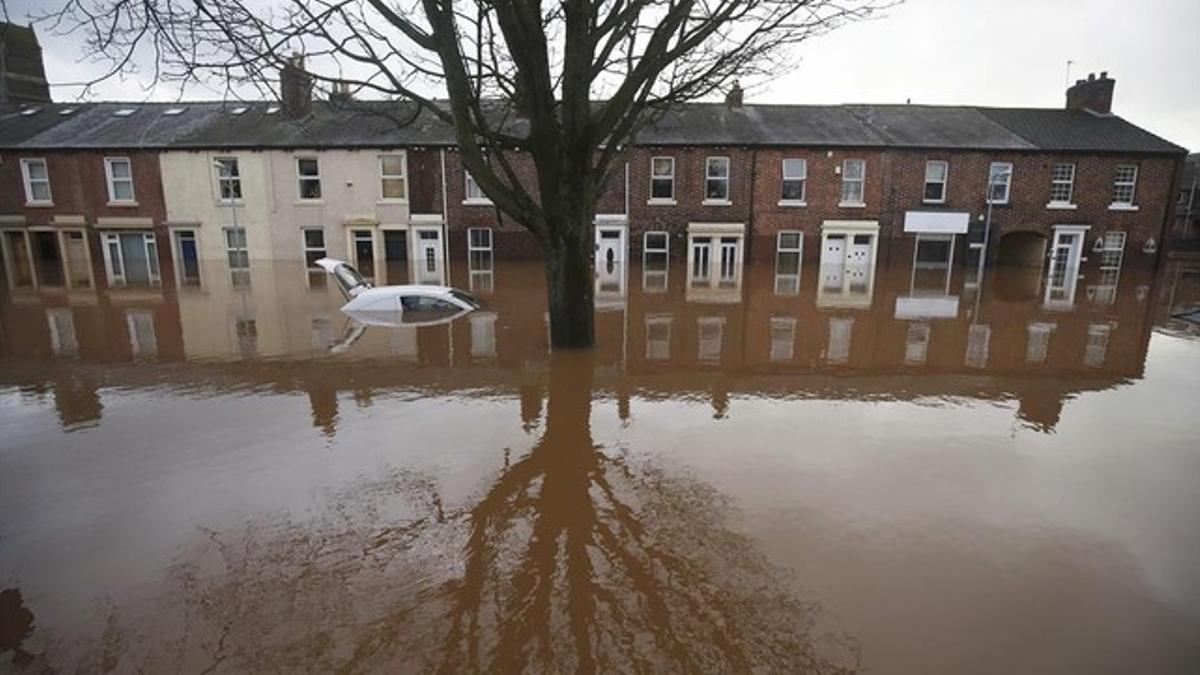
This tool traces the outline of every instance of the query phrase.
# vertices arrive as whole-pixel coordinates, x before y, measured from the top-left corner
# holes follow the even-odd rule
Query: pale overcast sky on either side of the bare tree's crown
[[[4,2],[5,0],[0,0]],[[60,0],[7,0],[10,17]],[[78,82],[78,37],[40,31],[52,83]],[[1060,107],[1072,80],[1108,71],[1114,112],[1200,150],[1200,1],[907,0],[883,18],[848,25],[799,49],[798,68],[749,91],[748,102],[966,103]],[[103,98],[172,98],[137,80],[97,88]],[[56,100],[76,95],[55,88]],[[188,98],[215,92],[188,91]]]

